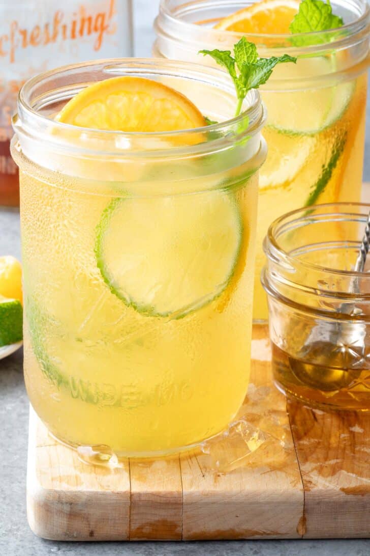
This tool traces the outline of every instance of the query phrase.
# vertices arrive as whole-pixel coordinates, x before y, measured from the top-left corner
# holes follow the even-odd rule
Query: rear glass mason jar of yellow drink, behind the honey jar
[[[155,56],[213,65],[200,49],[230,49],[241,33],[212,28],[248,0],[162,0]],[[366,0],[333,0],[346,23],[325,33],[249,34],[264,58],[291,54],[260,88],[267,107],[267,161],[260,173],[254,320],[267,319],[260,283],[262,241],[282,212],[315,203],[361,200],[370,11]],[[302,46],[306,45],[306,46]]]

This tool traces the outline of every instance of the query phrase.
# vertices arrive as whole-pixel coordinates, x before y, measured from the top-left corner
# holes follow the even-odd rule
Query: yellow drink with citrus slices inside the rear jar
[[[292,72],[292,68],[289,70]],[[263,238],[271,222],[282,212],[301,206],[361,201],[366,91],[367,75],[363,73],[356,80],[322,89],[262,93],[270,125],[263,131],[268,156],[261,170],[259,187],[255,320],[268,317],[267,297],[260,276],[265,265]],[[326,116],[328,120],[323,122],[322,130],[310,130],[315,108],[316,126],[320,125],[318,121],[325,106],[334,111],[330,98],[337,103],[337,113],[332,120],[331,116]],[[275,127],[275,115],[278,123],[285,123],[288,130]],[[290,125],[301,131],[292,132]]]

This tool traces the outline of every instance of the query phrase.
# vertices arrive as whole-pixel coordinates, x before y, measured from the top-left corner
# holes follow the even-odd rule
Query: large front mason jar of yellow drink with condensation
[[[145,77],[222,121],[161,133],[54,120],[91,82]],[[22,88],[24,372],[64,442],[179,451],[226,427],[250,367],[263,105],[232,118],[224,72],[163,59],[64,67]]]

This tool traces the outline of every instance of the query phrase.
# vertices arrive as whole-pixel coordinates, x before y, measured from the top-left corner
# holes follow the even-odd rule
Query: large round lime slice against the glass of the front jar
[[[239,209],[225,192],[120,198],[103,212],[95,255],[104,281],[126,305],[179,318],[226,288],[241,236]]]

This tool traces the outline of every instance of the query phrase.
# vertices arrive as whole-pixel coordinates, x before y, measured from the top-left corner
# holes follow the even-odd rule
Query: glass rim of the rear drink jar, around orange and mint
[[[202,1],[202,0],[201,0]],[[171,0],[161,0],[160,2],[160,11],[159,16],[155,19],[155,28],[158,33],[161,24],[160,20],[162,19],[163,22],[169,23],[172,26],[176,26],[176,32],[182,32],[181,36],[189,36],[189,33],[197,32],[196,29],[199,29],[199,37],[201,33],[205,31],[204,27],[198,26],[194,23],[187,23],[182,21],[180,18],[176,18],[173,11],[170,8]],[[341,0],[342,2],[342,0]],[[197,4],[199,2],[193,2]],[[240,8],[246,7],[246,5],[252,4],[254,2],[246,2],[245,0],[236,1],[235,3],[240,4]],[[353,2],[352,2],[353,3]],[[266,51],[273,51],[274,49],[284,48],[287,53],[293,56],[299,56],[300,52],[304,52],[306,55],[309,53],[321,53],[322,51],[327,51],[328,47],[331,50],[343,48],[347,45],[348,40],[350,39],[350,43],[353,42],[353,37],[357,36],[358,33],[361,33],[364,29],[367,29],[369,32],[369,24],[370,24],[370,6],[366,0],[354,0],[354,3],[357,4],[359,8],[362,9],[361,15],[354,19],[354,21],[344,24],[342,27],[328,29],[327,31],[313,31],[313,32],[306,32],[306,33],[240,33],[234,31],[226,31],[224,29],[214,29],[214,28],[206,28],[207,33],[209,33],[210,37],[217,37],[217,41],[219,41],[220,37],[224,39],[230,38],[230,36],[235,37],[235,42],[239,40],[241,37],[246,36],[252,42],[260,43],[263,49]],[[187,10],[189,11],[190,3],[186,3]],[[222,6],[223,4],[227,5],[227,0],[218,0],[217,7]],[[324,35],[325,34],[325,35]],[[296,39],[313,39],[313,44],[307,44],[307,46],[292,46],[292,44],[288,44],[288,38],[294,36]],[[326,38],[326,41],[323,42],[321,40],[322,37]],[[317,38],[317,42],[315,42],[315,38]],[[263,44],[263,39],[268,39],[268,41],[275,42],[276,46],[269,47]],[[283,43],[283,44],[281,44]]]

